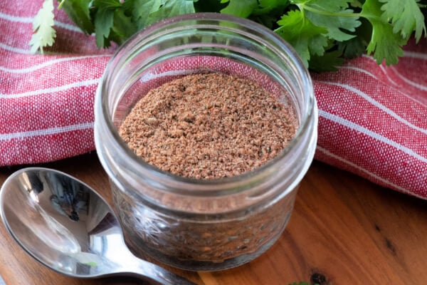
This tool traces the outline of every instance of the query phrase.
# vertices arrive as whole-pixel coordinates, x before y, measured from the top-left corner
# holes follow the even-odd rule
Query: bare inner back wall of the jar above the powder
[[[116,68],[108,102],[116,128],[138,100],[163,83],[194,73],[225,73],[255,81],[293,110],[297,125],[304,113],[304,92],[290,58],[279,58],[253,34],[218,28],[167,31],[157,38],[143,38]],[[288,62],[287,62],[288,61]]]

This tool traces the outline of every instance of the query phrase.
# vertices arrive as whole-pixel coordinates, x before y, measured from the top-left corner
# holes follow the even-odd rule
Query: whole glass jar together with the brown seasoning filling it
[[[94,138],[134,254],[196,271],[245,264],[283,233],[312,162],[310,73],[253,21],[166,19],[112,56]]]

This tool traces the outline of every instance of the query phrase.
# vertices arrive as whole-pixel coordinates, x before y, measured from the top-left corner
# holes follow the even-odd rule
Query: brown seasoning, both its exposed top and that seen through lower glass
[[[211,180],[241,175],[278,155],[295,135],[297,119],[292,114],[253,81],[221,73],[193,74],[150,90],[125,118],[120,136],[142,160],[161,170]],[[294,197],[256,214],[248,212],[246,219],[184,222],[159,212],[142,214],[136,211],[142,204],[114,194],[131,247],[173,266],[209,270],[225,260],[231,260],[227,266],[236,266],[269,247],[288,222]],[[203,214],[233,211],[246,203],[236,197],[199,201],[163,192],[152,199]],[[138,230],[126,230],[131,227]],[[235,259],[243,253],[248,256]]]

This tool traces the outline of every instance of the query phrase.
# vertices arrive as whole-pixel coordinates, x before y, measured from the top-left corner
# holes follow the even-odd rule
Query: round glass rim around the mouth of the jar
[[[244,172],[241,175],[212,179],[197,179],[194,177],[183,177],[180,175],[174,175],[171,172],[167,172],[161,170],[159,167],[150,165],[148,162],[145,162],[140,157],[138,157],[135,152],[133,152],[130,147],[127,146],[126,142],[122,140],[115,124],[113,123],[110,112],[108,111],[107,96],[101,95],[103,92],[101,92],[100,90],[102,90],[105,84],[107,84],[107,74],[110,73],[110,70],[112,69],[112,61],[114,61],[117,56],[120,56],[120,53],[122,51],[124,51],[126,48],[132,47],[132,45],[135,42],[139,41],[140,38],[144,38],[144,36],[149,36],[151,33],[157,31],[159,28],[164,28],[165,26],[175,24],[176,22],[189,20],[228,21],[232,24],[238,24],[253,31],[257,31],[258,33],[263,33],[265,36],[268,36],[268,39],[273,41],[275,45],[280,47],[280,49],[283,51],[283,53],[286,54],[286,56],[291,58],[291,61],[295,63],[295,70],[297,71],[297,73],[299,73],[300,78],[302,79],[302,92],[305,94],[307,99],[307,108],[301,116],[300,124],[298,125],[297,132],[295,133],[294,137],[292,138],[292,140],[290,140],[288,145],[286,145],[285,148],[278,153],[278,155],[273,157],[273,159],[268,160],[268,162],[265,162],[265,164],[260,165],[259,167],[255,167],[251,171]],[[192,28],[194,28],[194,26]],[[234,31],[238,30],[234,28]],[[262,39],[258,40],[263,41]],[[271,43],[264,42],[264,44],[267,46],[272,46]],[[281,54],[277,54],[277,56],[283,57]],[[128,156],[127,158],[129,158],[130,160],[128,162],[132,165],[132,167],[137,172],[147,172],[148,170],[149,174],[152,177],[156,177],[158,180],[173,179],[174,182],[179,182],[184,185],[228,185],[233,184],[234,182],[240,182],[241,180],[246,180],[247,178],[259,177],[264,172],[266,172],[266,170],[270,169],[270,167],[276,165],[278,162],[283,160],[284,157],[287,157],[288,154],[292,152],[295,147],[297,147],[298,142],[302,140],[302,136],[304,135],[305,130],[307,130],[307,128],[310,128],[310,122],[313,120],[313,117],[315,117],[315,120],[317,120],[317,105],[315,103],[314,89],[312,86],[310,73],[308,72],[307,68],[305,68],[304,63],[302,63],[302,60],[300,59],[300,56],[297,54],[295,49],[292,48],[289,43],[284,41],[283,38],[278,36],[276,33],[266,28],[265,26],[256,23],[255,21],[243,19],[237,16],[218,13],[194,13],[174,16],[169,19],[158,21],[157,23],[152,24],[147,28],[144,28],[144,30],[135,33],[135,35],[129,38],[124,44],[122,44],[122,46],[117,49],[117,51],[115,51],[112,58],[110,59],[110,62],[107,64],[107,68],[105,68],[104,75],[102,76],[102,80],[100,81],[100,85],[98,86],[97,97],[97,100],[100,100],[100,113],[102,114],[102,119],[105,120],[107,130],[110,132],[110,135],[112,135],[112,138],[114,139],[115,147],[126,153],[126,155]],[[97,104],[95,104],[95,108],[97,108]],[[96,113],[97,112],[95,112],[95,114]]]

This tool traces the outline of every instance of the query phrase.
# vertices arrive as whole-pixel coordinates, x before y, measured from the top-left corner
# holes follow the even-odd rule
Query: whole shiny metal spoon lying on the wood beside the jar
[[[135,257],[110,206],[70,175],[31,167],[1,187],[6,229],[41,264],[72,277],[136,276],[154,284],[194,284]]]

